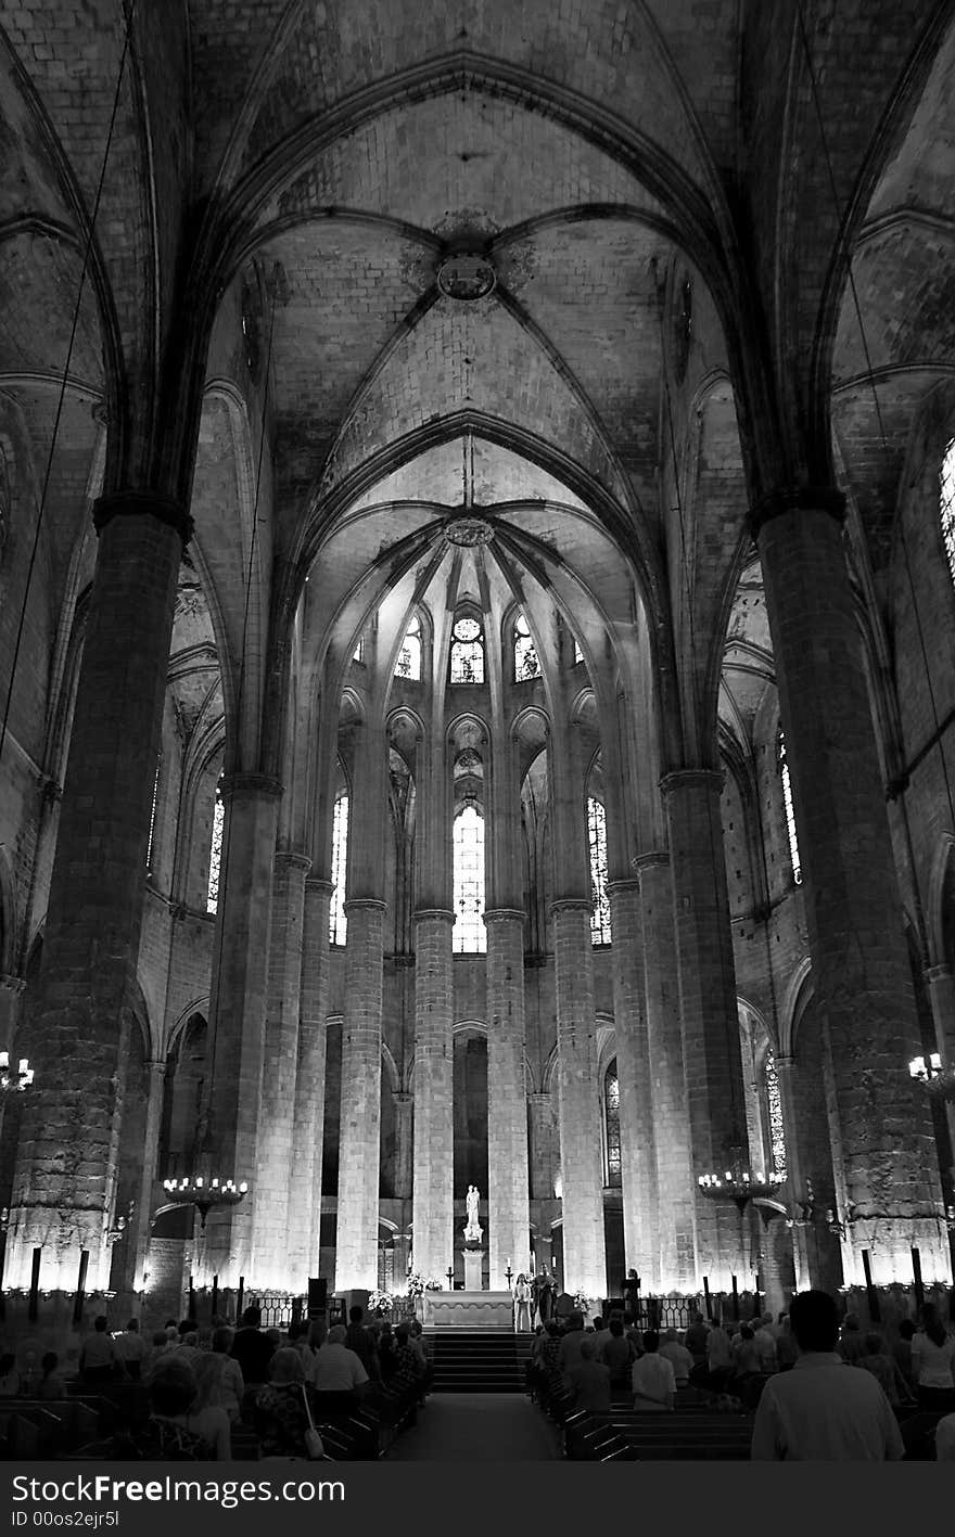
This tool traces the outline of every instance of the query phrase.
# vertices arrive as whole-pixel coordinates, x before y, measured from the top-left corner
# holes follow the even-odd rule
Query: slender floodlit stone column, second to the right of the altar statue
[[[564,1286],[581,1288],[589,1297],[603,1297],[607,1277],[591,904],[581,898],[567,898],[554,902],[551,915],[557,982]]]

